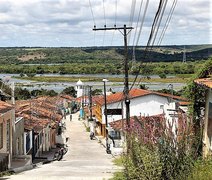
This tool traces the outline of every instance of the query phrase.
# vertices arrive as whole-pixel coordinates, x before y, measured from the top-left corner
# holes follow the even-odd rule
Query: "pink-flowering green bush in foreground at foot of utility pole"
[[[186,179],[194,166],[192,125],[180,117],[176,128],[166,119],[136,120],[127,130],[126,179]],[[175,130],[174,130],[175,129]]]

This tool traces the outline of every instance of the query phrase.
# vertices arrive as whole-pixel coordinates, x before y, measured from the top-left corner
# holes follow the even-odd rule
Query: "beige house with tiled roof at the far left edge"
[[[14,122],[14,107],[11,104],[0,101],[0,172],[11,167]]]

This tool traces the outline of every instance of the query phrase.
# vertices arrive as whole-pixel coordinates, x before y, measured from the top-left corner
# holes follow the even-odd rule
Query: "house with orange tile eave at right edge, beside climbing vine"
[[[206,91],[203,127],[203,156],[206,157],[212,154],[212,79],[201,78],[194,82]]]

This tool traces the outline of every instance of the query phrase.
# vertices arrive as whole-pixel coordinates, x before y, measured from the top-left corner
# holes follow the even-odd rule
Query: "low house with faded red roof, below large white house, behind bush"
[[[130,131],[133,131],[135,134],[137,133],[140,138],[146,138],[152,141],[152,143],[155,143],[156,139],[159,138],[158,131],[163,130],[161,125],[165,122],[164,114],[153,116],[131,116]],[[125,134],[126,131],[129,130],[126,119],[110,122],[108,126],[108,141],[111,153],[113,155],[121,154],[126,145]],[[144,129],[146,130],[145,132]]]

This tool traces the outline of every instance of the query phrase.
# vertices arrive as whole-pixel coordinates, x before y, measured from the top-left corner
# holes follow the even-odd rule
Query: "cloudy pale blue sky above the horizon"
[[[0,47],[122,46],[124,38],[118,30],[92,30],[94,25],[103,28],[105,24],[132,26],[128,44],[145,46],[159,0],[149,0],[139,38],[142,18],[136,27],[141,0],[133,1],[136,6],[132,20],[132,0],[0,0]],[[156,38],[160,37],[173,1],[167,3]],[[161,45],[212,44],[210,1],[178,0]],[[141,14],[146,2],[143,0]]]

